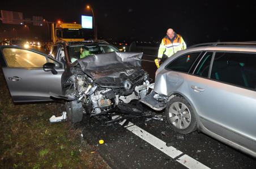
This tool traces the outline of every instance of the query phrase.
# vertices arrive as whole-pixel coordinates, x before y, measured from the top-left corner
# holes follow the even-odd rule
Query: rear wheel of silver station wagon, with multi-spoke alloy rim
[[[165,115],[172,129],[180,134],[197,130],[194,111],[184,97],[174,96],[167,104]]]

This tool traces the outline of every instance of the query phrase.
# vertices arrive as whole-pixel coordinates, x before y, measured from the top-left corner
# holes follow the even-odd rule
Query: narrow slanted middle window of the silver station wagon
[[[206,52],[195,69],[194,74],[200,77],[208,77],[213,52]]]

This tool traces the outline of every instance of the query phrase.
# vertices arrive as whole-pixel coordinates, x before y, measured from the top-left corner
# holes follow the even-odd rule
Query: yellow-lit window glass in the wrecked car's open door
[[[44,55],[18,48],[4,48],[3,55],[9,68],[42,68],[46,63]]]

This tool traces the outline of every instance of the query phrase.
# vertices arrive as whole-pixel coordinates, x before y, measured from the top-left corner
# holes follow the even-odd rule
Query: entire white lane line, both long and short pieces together
[[[117,118],[117,116],[114,118]],[[125,122],[126,122],[126,119],[124,119],[119,124],[122,126]],[[131,122],[129,122],[126,126],[123,126],[123,127],[125,127],[127,130],[133,132],[133,134],[140,137],[141,139],[147,141],[147,143],[150,143],[151,145],[155,146],[155,148],[159,149],[161,152],[169,155],[169,157],[171,157],[171,158],[176,158],[182,154],[182,152],[180,150],[174,148],[173,146],[167,146],[163,140],[158,139],[156,136],[151,135],[149,132],[143,130],[142,128],[136,126],[135,124],[133,124]],[[207,169],[207,168],[209,168],[186,154],[182,155],[176,161],[190,169],[194,169],[194,168]]]

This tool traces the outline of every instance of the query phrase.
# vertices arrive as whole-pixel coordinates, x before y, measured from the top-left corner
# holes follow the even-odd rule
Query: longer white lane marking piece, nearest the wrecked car
[[[133,134],[135,134],[136,136],[139,136],[141,139],[147,141],[151,145],[155,146],[155,148],[159,149],[161,152],[169,155],[172,158],[178,157],[178,155],[182,154],[180,150],[177,150],[173,146],[167,146],[164,141],[151,135],[149,132],[143,130],[142,128],[134,125],[131,122],[129,122],[125,127],[127,130],[133,132]]]

